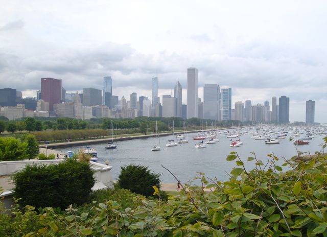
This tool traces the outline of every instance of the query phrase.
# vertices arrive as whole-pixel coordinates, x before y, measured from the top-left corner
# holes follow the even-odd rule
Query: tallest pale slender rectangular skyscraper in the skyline
[[[198,69],[188,68],[187,117],[198,117]]]

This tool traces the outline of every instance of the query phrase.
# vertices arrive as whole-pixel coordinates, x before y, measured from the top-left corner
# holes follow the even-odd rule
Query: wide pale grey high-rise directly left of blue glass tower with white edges
[[[218,120],[219,85],[205,84],[203,87],[203,117]]]

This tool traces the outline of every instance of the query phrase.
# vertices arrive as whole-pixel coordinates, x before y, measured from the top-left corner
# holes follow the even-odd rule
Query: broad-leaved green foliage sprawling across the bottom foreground
[[[25,214],[14,213],[23,227],[17,231],[29,236],[327,236],[326,156],[299,154],[285,162],[290,168],[286,172],[273,154],[267,158],[264,164],[253,153],[248,161],[255,162],[255,168],[246,171],[232,152],[227,160],[236,160],[236,167],[228,181],[208,182],[199,173],[211,192],[185,185],[167,203],[134,197],[142,204],[125,208],[109,200],[93,203],[82,214],[70,206],[64,216],[51,207],[42,215],[26,207]],[[32,232],[24,230],[25,216],[35,223]]]

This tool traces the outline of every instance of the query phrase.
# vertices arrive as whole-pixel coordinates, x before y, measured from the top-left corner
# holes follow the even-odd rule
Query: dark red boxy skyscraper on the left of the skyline
[[[49,103],[49,111],[53,111],[53,105],[62,101],[62,80],[41,78],[41,98]]]

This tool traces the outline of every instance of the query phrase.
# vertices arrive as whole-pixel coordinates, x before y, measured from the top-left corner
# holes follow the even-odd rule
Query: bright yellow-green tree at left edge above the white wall
[[[12,137],[0,138],[0,161],[24,160],[29,156],[27,152],[27,142]]]

